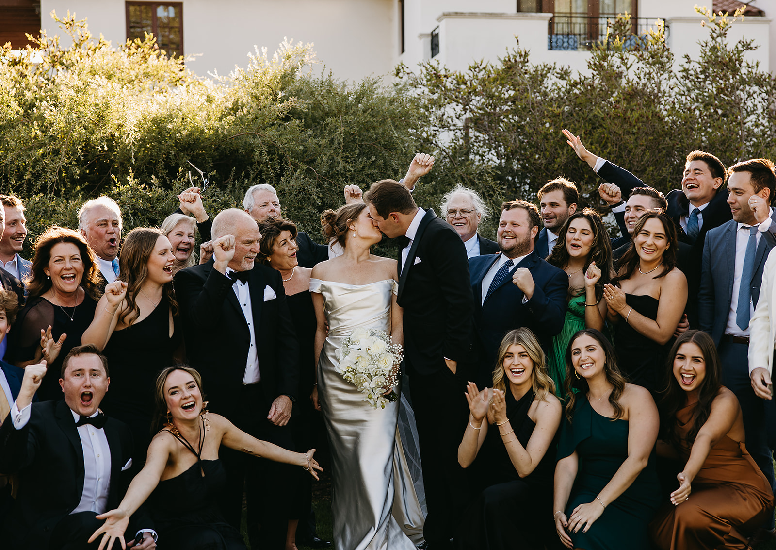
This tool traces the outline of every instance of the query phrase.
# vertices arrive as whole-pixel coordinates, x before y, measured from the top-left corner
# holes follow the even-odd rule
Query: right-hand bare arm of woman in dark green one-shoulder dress
[[[623,395],[623,404],[628,411],[628,458],[620,465],[611,481],[590,503],[577,506],[569,521],[569,531],[576,533],[584,528],[587,531],[605,507],[614,502],[636,480],[647,463],[657,440],[660,417],[652,395],[646,389],[627,385]],[[627,402],[625,402],[627,399]]]

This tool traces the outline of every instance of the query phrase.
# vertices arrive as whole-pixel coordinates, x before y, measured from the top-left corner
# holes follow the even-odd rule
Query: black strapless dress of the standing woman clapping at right
[[[625,303],[650,319],[657,319],[660,301],[646,294],[625,294]],[[643,386],[655,395],[665,384],[666,347],[637,332],[620,319],[615,328],[617,366],[631,383]]]

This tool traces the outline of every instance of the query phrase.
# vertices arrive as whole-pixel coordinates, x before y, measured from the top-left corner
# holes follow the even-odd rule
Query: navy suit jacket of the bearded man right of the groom
[[[549,350],[553,336],[563,329],[566,319],[566,303],[569,291],[569,277],[566,272],[539,258],[535,252],[525,256],[514,266],[509,277],[483,305],[483,278],[500,254],[477,256],[469,259],[469,277],[474,294],[474,325],[478,348],[479,368],[477,385],[493,385],[493,371],[498,346],[504,334],[521,326],[528,327],[536,335],[542,347]],[[530,300],[523,303],[525,294],[512,283],[514,272],[527,268],[536,285]]]

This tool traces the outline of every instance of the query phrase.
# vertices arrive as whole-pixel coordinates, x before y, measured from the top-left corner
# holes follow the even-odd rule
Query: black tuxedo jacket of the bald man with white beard
[[[278,395],[296,398],[299,392],[299,346],[280,273],[258,262],[250,273],[250,326],[233,281],[214,269],[213,259],[175,274],[189,364],[202,374],[210,410],[227,418],[242,385],[251,330],[255,332],[262,391],[268,402]],[[266,415],[266,411],[257,414]]]

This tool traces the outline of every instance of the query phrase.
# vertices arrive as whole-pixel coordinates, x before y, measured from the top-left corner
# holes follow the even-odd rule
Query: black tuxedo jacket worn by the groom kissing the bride
[[[401,262],[401,251],[399,251]],[[397,303],[404,308],[404,359],[411,374],[432,374],[445,357],[471,360],[474,301],[461,237],[426,211],[400,265]]]

